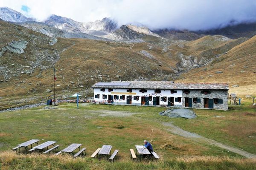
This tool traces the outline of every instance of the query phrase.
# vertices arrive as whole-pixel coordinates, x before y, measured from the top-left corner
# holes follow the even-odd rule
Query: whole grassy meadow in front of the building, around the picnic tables
[[[165,123],[183,130],[256,153],[256,113],[249,101],[230,111],[194,110],[195,119],[159,116],[166,108],[60,104],[58,109],[43,107],[0,113],[0,167],[5,169],[255,169],[256,160],[246,159],[215,145],[172,134]],[[221,116],[221,117],[215,117]],[[224,117],[223,117],[224,116]],[[11,151],[16,144],[30,139],[57,141],[60,150],[71,143],[87,147],[85,158],[70,155]],[[131,161],[129,149],[147,139],[160,160]],[[40,144],[39,143],[39,144]],[[119,149],[114,163],[91,159],[103,144]]]

